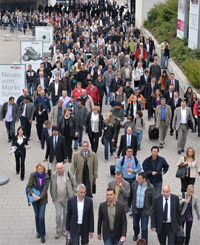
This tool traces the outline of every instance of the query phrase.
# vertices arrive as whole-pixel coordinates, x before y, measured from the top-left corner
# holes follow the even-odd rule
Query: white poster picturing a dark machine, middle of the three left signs
[[[32,65],[32,69],[37,72],[40,63],[43,61],[43,44],[41,41],[21,41],[20,42],[20,62],[26,65]]]

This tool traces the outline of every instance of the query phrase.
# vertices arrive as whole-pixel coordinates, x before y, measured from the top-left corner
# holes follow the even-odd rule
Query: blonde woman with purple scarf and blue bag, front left
[[[32,187],[35,187],[40,191],[40,196],[36,196],[32,190]],[[29,177],[27,184],[27,191],[29,195],[32,195],[34,202],[32,203],[34,212],[35,212],[35,224],[37,231],[37,238],[41,238],[41,242],[45,242],[45,209],[46,204],[48,203],[48,191],[49,187],[49,175],[47,174],[46,166],[43,162],[40,162],[36,165],[34,173]]]

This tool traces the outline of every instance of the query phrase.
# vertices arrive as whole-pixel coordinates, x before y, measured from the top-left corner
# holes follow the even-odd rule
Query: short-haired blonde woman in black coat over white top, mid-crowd
[[[92,112],[86,116],[84,128],[90,139],[92,151],[96,153],[103,129],[103,116],[98,106],[94,106]]]

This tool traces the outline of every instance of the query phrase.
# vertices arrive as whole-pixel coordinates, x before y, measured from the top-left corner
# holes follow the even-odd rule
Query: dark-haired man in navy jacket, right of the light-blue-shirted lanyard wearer
[[[169,164],[164,157],[158,156],[159,148],[153,146],[151,148],[151,156],[147,157],[143,162],[143,170],[147,175],[147,179],[154,186],[156,196],[161,194],[162,176],[167,173]]]

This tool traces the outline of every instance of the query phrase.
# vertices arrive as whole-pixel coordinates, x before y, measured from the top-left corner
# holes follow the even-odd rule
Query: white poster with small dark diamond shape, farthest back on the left
[[[49,47],[53,43],[53,27],[52,26],[36,26],[35,40],[43,42],[44,56],[50,57]]]

